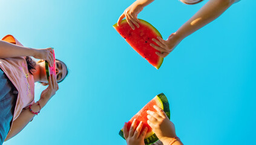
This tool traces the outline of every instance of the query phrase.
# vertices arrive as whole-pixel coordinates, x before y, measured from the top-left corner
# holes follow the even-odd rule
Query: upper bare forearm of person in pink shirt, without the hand
[[[21,56],[34,56],[35,49],[21,47],[13,43],[0,40],[0,59]]]

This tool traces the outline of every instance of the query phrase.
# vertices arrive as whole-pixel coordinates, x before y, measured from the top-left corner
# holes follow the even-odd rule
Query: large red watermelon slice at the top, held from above
[[[162,36],[153,25],[142,19],[139,19],[139,21],[140,27],[135,28],[135,30],[130,27],[126,19],[120,23],[119,27],[117,27],[117,24],[114,24],[113,27],[140,56],[159,69],[163,63],[163,57],[157,56],[156,52],[160,51],[154,49],[149,44],[154,43],[157,45],[152,39]]]

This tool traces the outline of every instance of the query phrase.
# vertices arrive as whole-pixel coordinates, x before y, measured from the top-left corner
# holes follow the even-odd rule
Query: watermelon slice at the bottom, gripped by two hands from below
[[[137,112],[137,114],[134,115],[133,118],[131,118],[131,120],[128,121],[127,123],[127,130],[130,130],[131,123],[133,123],[134,118],[137,119],[136,127],[139,126],[140,121],[143,121],[142,130],[145,127],[148,127],[148,131],[144,139],[145,145],[153,144],[158,140],[156,134],[153,132],[152,128],[148,125],[147,123],[148,118],[146,117],[148,115],[146,113],[147,110],[156,112],[156,109],[154,109],[153,107],[154,105],[159,106],[159,108],[161,108],[165,112],[167,117],[170,118],[169,102],[165,94],[161,93],[159,95],[156,95],[156,97],[154,97],[151,101],[149,101],[148,104],[146,104],[139,112]],[[125,139],[125,137],[123,137],[123,129],[120,130],[119,135]]]

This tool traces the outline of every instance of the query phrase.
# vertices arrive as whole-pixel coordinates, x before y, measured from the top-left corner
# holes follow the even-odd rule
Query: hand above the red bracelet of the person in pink
[[[42,106],[44,106],[47,103],[47,101],[50,100],[50,98],[53,97],[53,95],[59,89],[56,77],[54,77],[53,74],[49,76],[48,83],[48,87],[41,93],[40,100],[43,101]]]

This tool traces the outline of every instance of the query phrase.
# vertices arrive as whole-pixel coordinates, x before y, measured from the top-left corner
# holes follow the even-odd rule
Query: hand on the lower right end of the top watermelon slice
[[[156,52],[157,56],[160,57],[168,56],[168,54],[182,41],[182,39],[177,37],[176,33],[172,33],[167,40],[163,40],[161,37],[157,37],[157,39],[153,38],[152,40],[159,46],[154,45],[153,43],[150,43],[150,46],[162,52]]]

